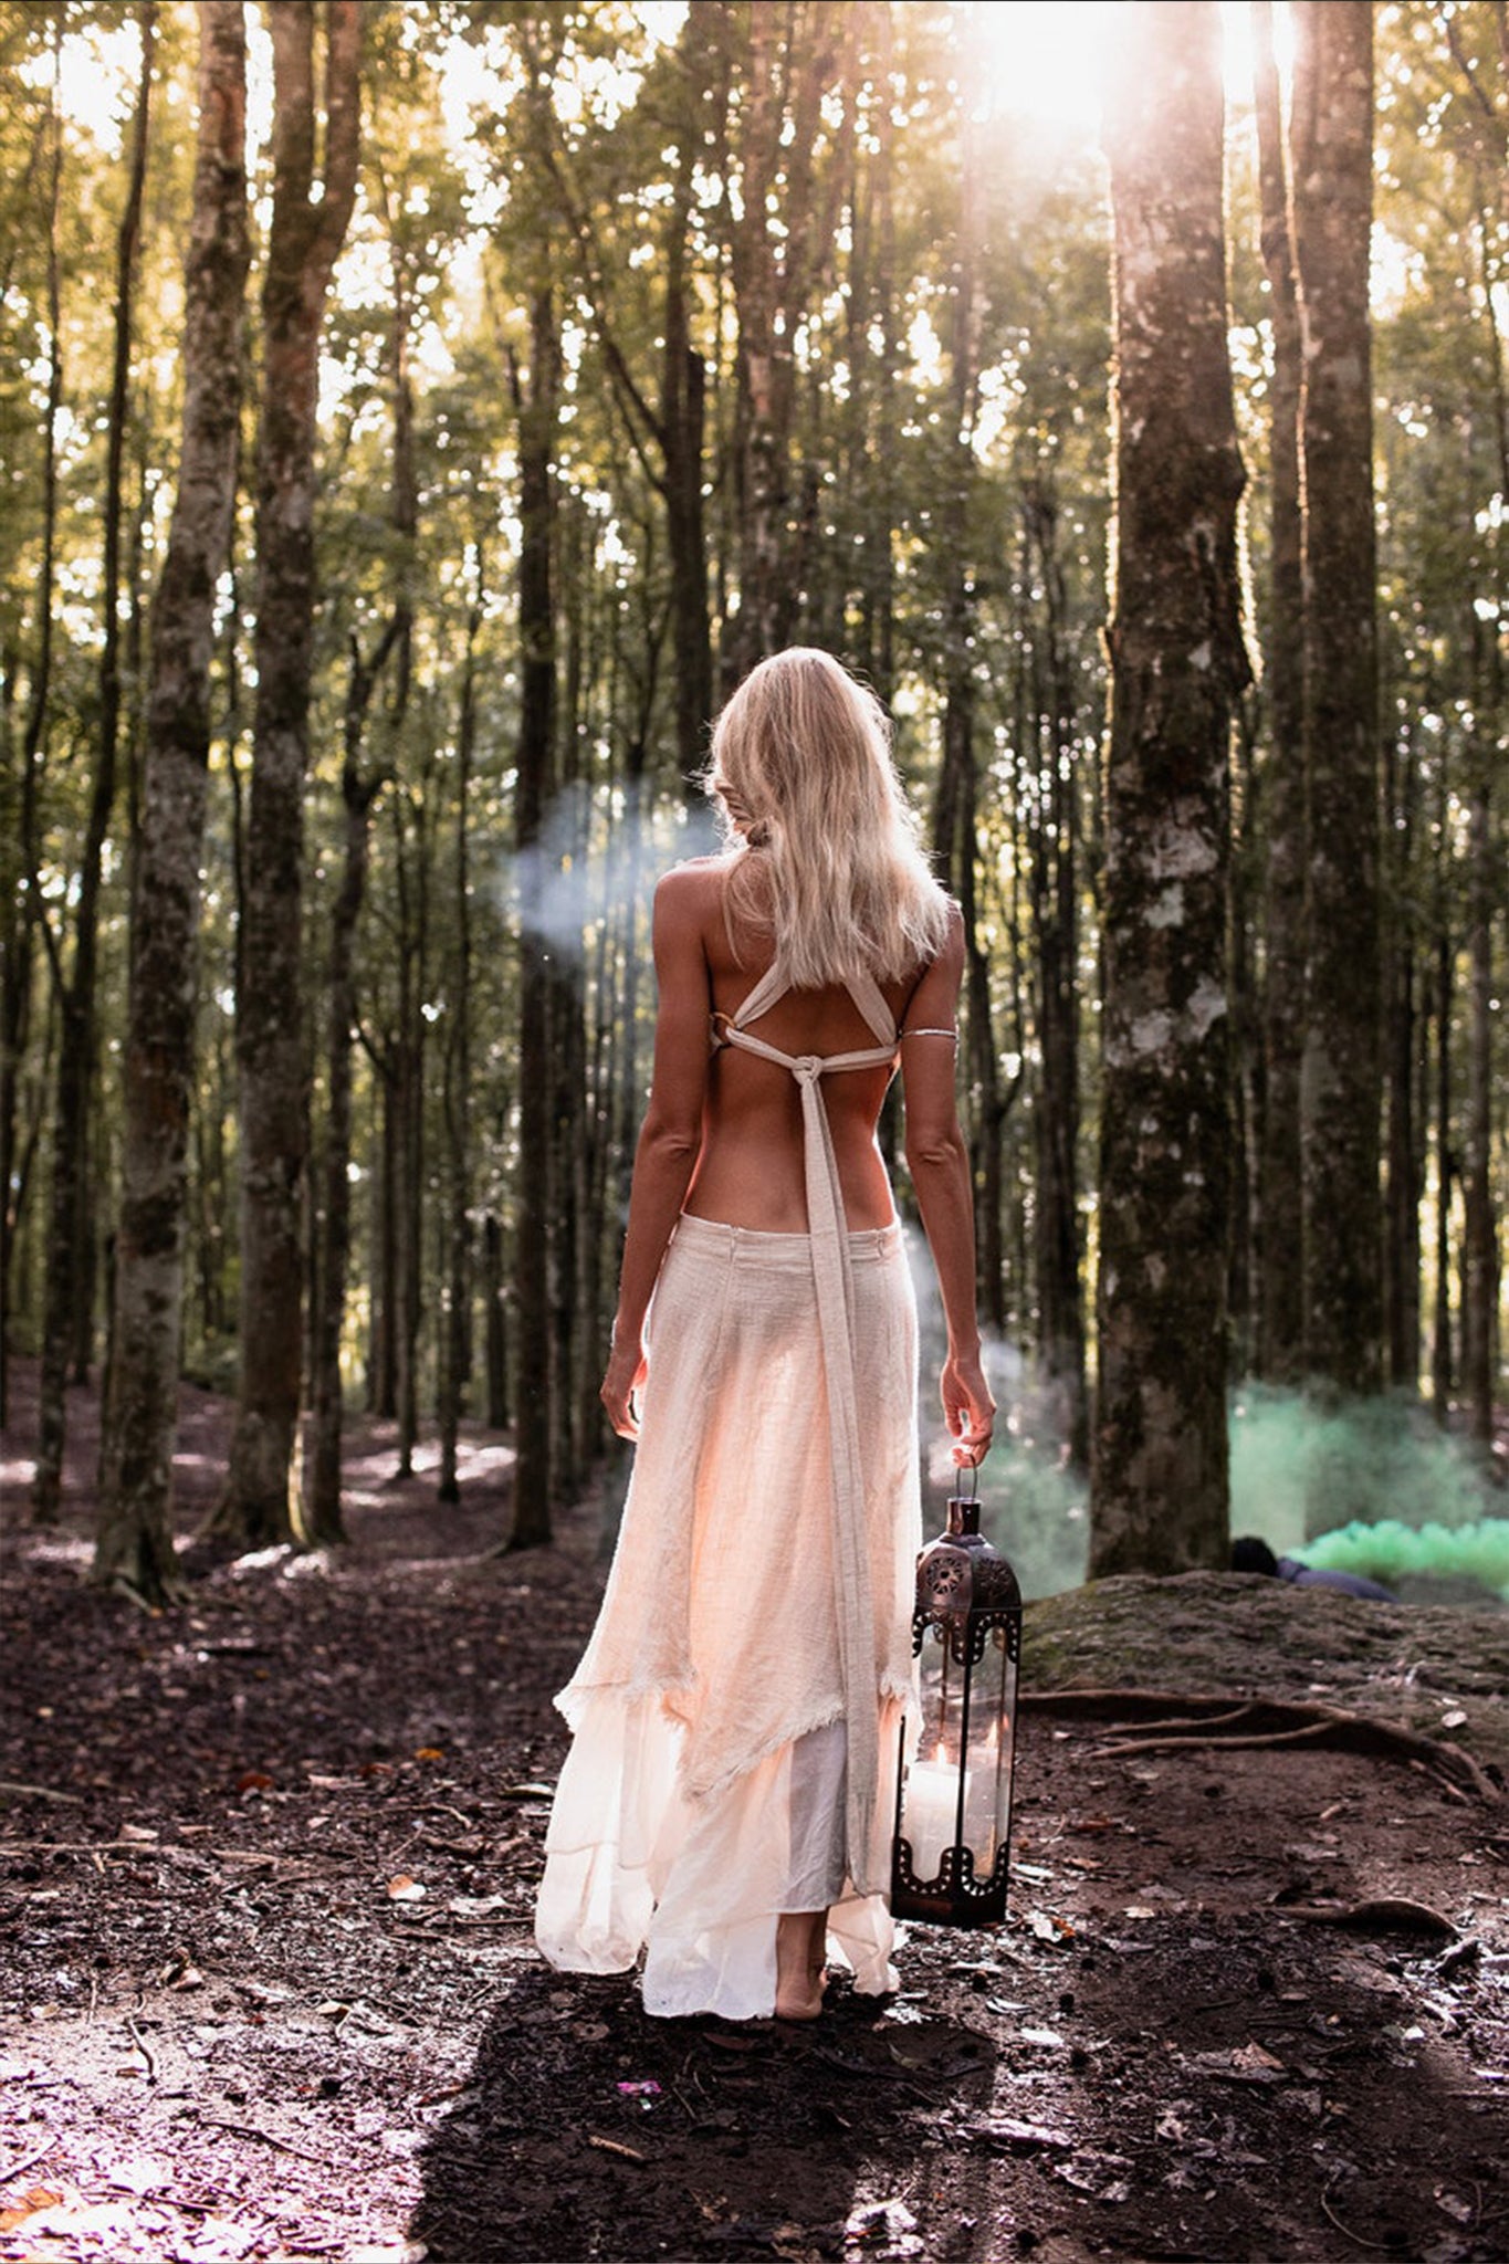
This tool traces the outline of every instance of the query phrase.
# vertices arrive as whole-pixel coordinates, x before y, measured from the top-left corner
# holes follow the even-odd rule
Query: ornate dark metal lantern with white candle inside
[[[1007,1915],[1023,1592],[973,1492],[948,1503],[948,1530],[916,1560],[912,1650],[921,1727],[912,1761],[903,1727],[891,1911],[993,1927]]]

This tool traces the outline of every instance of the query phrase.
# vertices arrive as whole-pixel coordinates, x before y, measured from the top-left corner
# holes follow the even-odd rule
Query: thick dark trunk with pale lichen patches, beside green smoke
[[[1090,1571],[1228,1553],[1231,711],[1247,681],[1208,0],[1129,11],[1115,213],[1115,591]]]

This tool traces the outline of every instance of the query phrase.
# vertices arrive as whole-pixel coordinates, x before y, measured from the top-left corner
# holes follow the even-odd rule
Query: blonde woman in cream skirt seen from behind
[[[896,1988],[889,1834],[912,1691],[916,1313],[876,1146],[900,1064],[952,1453],[993,1401],[955,1114],[957,908],[885,715],[826,652],[762,661],[713,734],[726,851],[656,887],[613,1429],[638,1440],[536,1911],[545,1956],[649,2013],[821,2010],[826,1943]],[[654,1300],[654,1304],[652,1304]]]

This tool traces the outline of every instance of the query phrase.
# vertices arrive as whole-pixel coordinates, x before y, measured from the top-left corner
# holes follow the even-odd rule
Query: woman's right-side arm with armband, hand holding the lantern
[[[900,1032],[900,1075],[907,1109],[907,1173],[923,1214],[948,1327],[948,1358],[939,1377],[943,1420],[955,1463],[980,1463],[991,1444],[995,1401],[980,1363],[975,1318],[975,1200],[968,1152],[955,1098],[959,983],[964,924],[955,912],[948,942],[916,985]]]

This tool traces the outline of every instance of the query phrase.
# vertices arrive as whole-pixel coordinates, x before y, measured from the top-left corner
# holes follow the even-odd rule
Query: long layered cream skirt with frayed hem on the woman
[[[896,1988],[873,1881],[889,1875],[914,1687],[916,1306],[900,1227],[851,1234],[848,1254],[880,1727],[862,1863],[844,1850],[833,1433],[810,1241],[681,1218],[656,1284],[613,1569],[557,1698],[572,1746],[536,1904],[536,1943],[561,1970],[624,1972],[643,1949],[649,2013],[769,2015],[781,1911],[828,1909],[828,1954],[860,1990]]]

